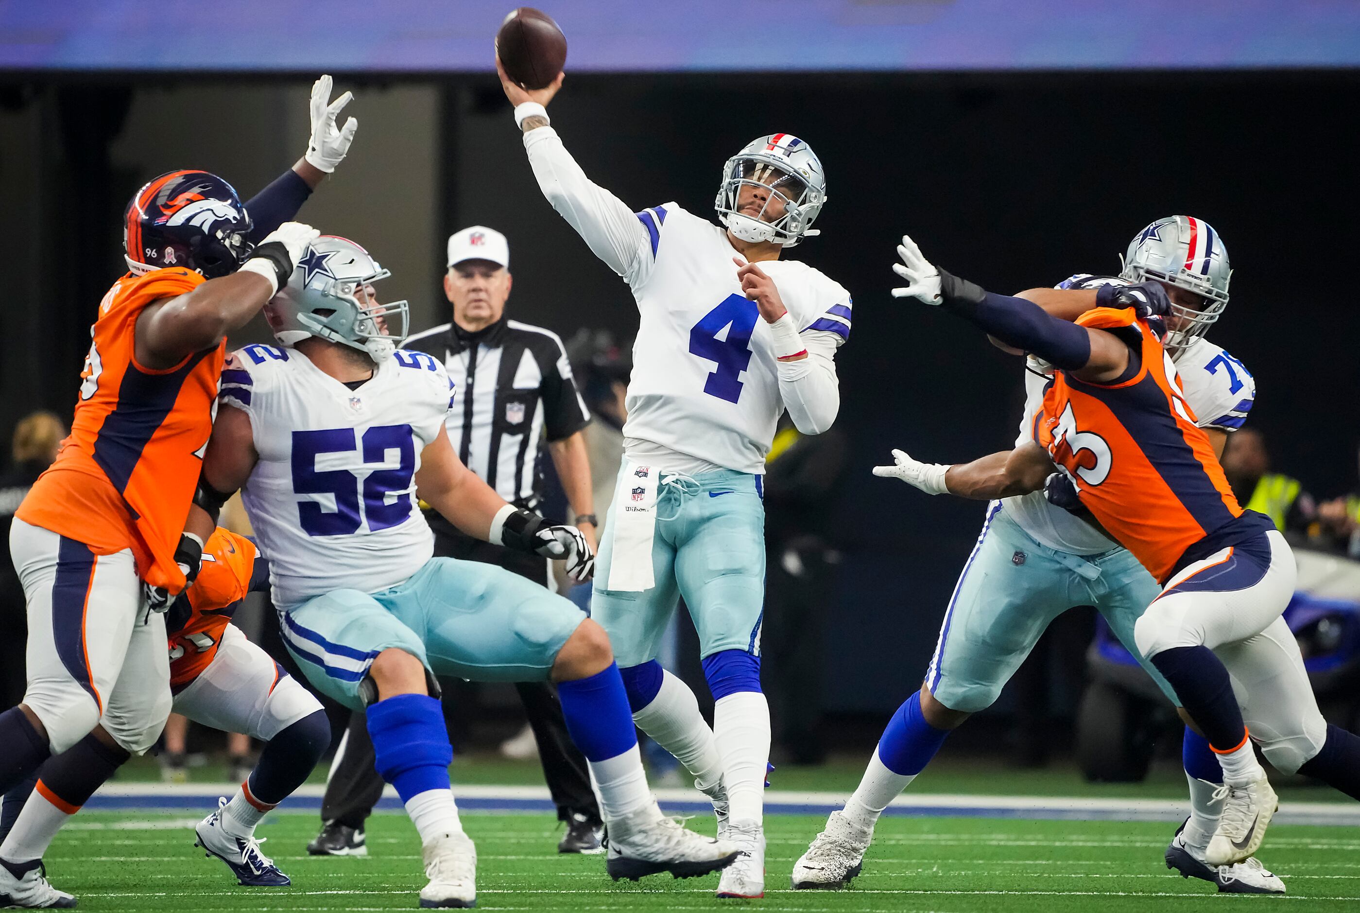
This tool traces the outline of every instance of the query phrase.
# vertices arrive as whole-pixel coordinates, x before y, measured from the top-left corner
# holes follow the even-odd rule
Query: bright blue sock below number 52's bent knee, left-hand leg
[[[397,694],[369,708],[374,767],[397,788],[401,801],[430,789],[449,789],[453,746],[439,702],[427,694]]]

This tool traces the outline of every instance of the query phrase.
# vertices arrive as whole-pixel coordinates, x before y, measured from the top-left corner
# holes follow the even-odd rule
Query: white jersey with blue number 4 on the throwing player
[[[741,294],[724,229],[676,203],[638,214],[651,256],[624,276],[641,321],[623,433],[728,469],[764,472],[783,412],[774,333]],[[762,261],[800,331],[850,336],[850,293],[796,260]]]

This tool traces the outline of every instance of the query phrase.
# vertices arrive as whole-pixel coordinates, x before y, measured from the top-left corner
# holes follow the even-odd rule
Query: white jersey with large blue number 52
[[[430,561],[415,474],[450,393],[424,352],[393,352],[358,389],[295,348],[246,346],[227,359],[220,401],[250,416],[260,461],[241,497],[280,610],[336,589],[375,593]]]

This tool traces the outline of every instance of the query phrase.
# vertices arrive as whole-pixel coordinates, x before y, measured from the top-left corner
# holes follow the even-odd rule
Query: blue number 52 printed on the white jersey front
[[[359,513],[359,479],[348,469],[317,469],[322,453],[352,453],[354,429],[292,433],[292,490],[296,494],[329,494],[333,512],[316,501],[298,502],[298,520],[309,536],[348,536],[359,532],[364,518],[369,531],[396,527],[411,516],[411,476],[416,471],[416,448],[409,425],[375,425],[363,433],[363,461],[386,463],[388,450],[398,453],[394,469],[374,469],[363,480],[363,514]],[[397,493],[394,501],[388,495]]]

